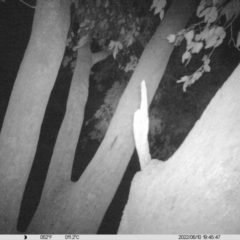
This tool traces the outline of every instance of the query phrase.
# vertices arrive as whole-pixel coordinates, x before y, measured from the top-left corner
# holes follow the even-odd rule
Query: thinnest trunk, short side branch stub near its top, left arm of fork
[[[100,51],[93,54],[89,43],[78,49],[66,114],[55,144],[41,202],[28,228],[30,233],[59,233],[60,229],[65,233],[63,226],[52,224],[56,221],[55,215],[59,213],[64,216],[65,221],[72,221],[72,213],[65,212],[64,206],[68,203],[74,185],[70,177],[88,98],[89,75],[93,64],[105,59],[109,53]]]

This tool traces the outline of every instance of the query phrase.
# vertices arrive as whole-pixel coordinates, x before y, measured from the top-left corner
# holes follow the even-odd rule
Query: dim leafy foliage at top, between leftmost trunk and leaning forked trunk
[[[120,52],[120,58],[128,55],[129,62],[121,62],[119,67],[125,71],[133,71],[138,57],[129,51],[129,48],[136,41],[145,44],[152,31],[152,18],[139,16],[140,6],[137,4],[144,3],[145,0],[140,2],[136,0],[74,0],[72,2],[72,27],[67,40],[67,47],[72,52],[64,57],[63,66],[70,64],[73,70],[76,50],[86,42],[94,40],[101,48],[108,48],[117,61],[119,61],[117,55]]]

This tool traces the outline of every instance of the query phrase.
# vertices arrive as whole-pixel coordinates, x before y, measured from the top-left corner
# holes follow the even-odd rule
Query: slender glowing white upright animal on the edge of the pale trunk
[[[140,167],[143,170],[151,161],[148,145],[148,102],[147,88],[143,80],[141,83],[141,104],[140,108],[134,113],[133,118],[133,134],[136,144],[136,149],[139,157]]]

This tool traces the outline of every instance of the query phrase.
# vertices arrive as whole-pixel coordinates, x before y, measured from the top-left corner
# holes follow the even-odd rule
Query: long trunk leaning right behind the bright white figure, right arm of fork
[[[132,118],[140,102],[140,82],[146,80],[151,102],[173,50],[166,37],[186,25],[197,4],[191,0],[173,1],[142,54],[96,155],[77,183],[58,185],[57,195],[49,203],[52,206],[41,211],[40,225],[35,224],[37,228],[30,232],[97,232],[134,150]]]

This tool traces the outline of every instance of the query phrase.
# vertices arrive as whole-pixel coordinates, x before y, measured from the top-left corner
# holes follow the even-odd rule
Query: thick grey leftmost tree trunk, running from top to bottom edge
[[[0,233],[16,232],[25,184],[70,24],[69,1],[37,1],[0,137]]]

